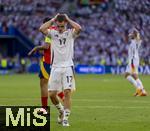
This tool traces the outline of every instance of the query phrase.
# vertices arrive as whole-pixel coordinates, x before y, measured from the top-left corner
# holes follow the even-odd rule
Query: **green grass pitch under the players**
[[[149,92],[150,76],[140,78]],[[51,106],[51,131],[150,131],[150,96],[133,97],[123,76],[77,75],[76,87],[71,126],[58,125]],[[37,75],[0,76],[0,105],[40,105]]]

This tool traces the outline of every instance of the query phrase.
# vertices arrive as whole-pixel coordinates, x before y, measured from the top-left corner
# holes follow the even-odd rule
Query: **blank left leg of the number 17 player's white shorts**
[[[62,88],[61,81],[62,81],[61,69],[52,67],[50,78],[48,81],[48,90],[49,91],[59,91],[60,88]]]

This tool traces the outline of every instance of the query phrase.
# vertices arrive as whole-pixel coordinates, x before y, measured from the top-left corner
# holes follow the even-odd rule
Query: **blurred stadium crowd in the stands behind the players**
[[[149,0],[102,0],[88,6],[77,0],[0,0],[0,26],[7,31],[13,25],[39,45],[39,26],[56,12],[67,12],[83,27],[75,43],[76,64],[126,65],[128,31],[137,27],[143,40],[141,64],[150,65]]]

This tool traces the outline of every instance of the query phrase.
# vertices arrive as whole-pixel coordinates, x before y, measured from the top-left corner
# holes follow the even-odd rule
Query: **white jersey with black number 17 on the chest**
[[[73,66],[74,55],[74,31],[67,29],[63,33],[56,30],[48,30],[51,37],[51,63],[54,67]]]

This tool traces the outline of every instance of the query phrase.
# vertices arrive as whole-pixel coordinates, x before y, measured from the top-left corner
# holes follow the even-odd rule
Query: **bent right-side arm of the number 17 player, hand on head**
[[[65,16],[66,16],[66,20],[68,21],[68,23],[74,28],[75,34],[78,35],[81,32],[82,27],[75,21],[71,20],[66,14]]]

